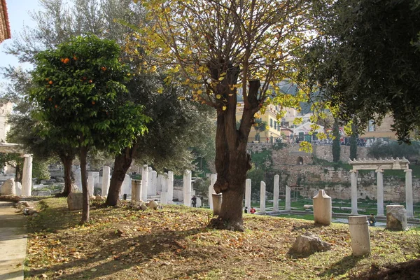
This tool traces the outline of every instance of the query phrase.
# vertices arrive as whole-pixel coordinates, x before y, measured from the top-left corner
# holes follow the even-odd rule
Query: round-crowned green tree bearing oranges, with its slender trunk
[[[83,189],[82,223],[89,221],[86,157],[92,148],[120,152],[146,132],[141,106],[123,102],[130,73],[118,60],[119,46],[96,36],[78,36],[35,55],[34,89],[44,136],[77,149]]]

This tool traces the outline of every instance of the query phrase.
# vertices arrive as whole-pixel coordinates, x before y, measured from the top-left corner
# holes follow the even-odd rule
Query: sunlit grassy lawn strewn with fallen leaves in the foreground
[[[66,200],[39,202],[29,221],[25,279],[361,279],[414,260],[420,235],[370,228],[371,255],[353,257],[348,225],[245,214],[244,232],[207,228],[212,212],[183,206],[137,211],[92,206],[91,223]],[[292,217],[292,216],[290,216]],[[288,254],[312,232],[332,244],[307,258]]]

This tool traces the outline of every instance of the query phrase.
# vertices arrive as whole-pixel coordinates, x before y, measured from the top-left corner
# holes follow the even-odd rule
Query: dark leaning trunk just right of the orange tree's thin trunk
[[[123,185],[125,174],[132,164],[136,150],[137,144],[134,144],[132,148],[127,147],[120,154],[116,155],[114,169],[111,176],[111,183],[109,185],[108,197],[106,197],[106,205],[116,206],[118,204],[121,186]]]

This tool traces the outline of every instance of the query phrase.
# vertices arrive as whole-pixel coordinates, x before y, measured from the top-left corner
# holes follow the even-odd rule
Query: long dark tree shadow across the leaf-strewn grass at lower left
[[[71,260],[66,263],[57,263],[42,269],[32,267],[28,274],[29,276],[37,276],[46,272],[59,272],[61,270],[64,271],[64,274],[59,275],[59,279],[97,278],[114,274],[130,267],[139,265],[144,267],[147,262],[154,262],[154,258],[164,251],[170,251],[172,254],[180,257],[193,255],[194,258],[209,258],[209,253],[205,252],[184,252],[185,247],[180,242],[188,236],[196,235],[203,230],[205,229],[195,228],[186,231],[162,230],[158,233],[139,235],[132,238],[120,237],[121,240],[116,243],[99,245],[101,248],[94,251],[90,257]],[[100,256],[97,257],[98,255]],[[212,255],[214,254],[212,253]],[[91,266],[94,262],[101,263]],[[165,265],[165,261],[162,261],[162,265]],[[66,272],[66,269],[74,269],[74,267],[85,267],[85,269],[73,273]],[[208,269],[211,269],[211,266]],[[190,270],[191,273],[197,272],[197,269],[193,267]]]

